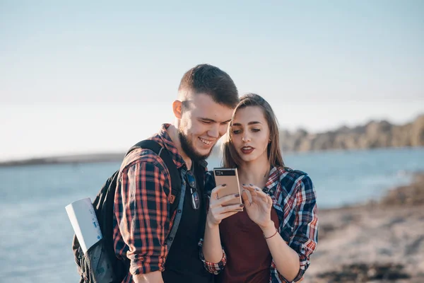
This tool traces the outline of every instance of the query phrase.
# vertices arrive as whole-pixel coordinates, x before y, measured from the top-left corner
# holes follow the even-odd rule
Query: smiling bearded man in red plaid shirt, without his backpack
[[[234,82],[217,67],[201,64],[182,77],[172,103],[175,124],[151,137],[170,152],[182,176],[182,204],[173,215],[170,203],[178,200],[163,160],[148,149],[124,158],[114,199],[115,253],[131,262],[123,282],[213,282],[199,258],[206,201],[194,180],[204,182],[205,159],[227,131],[238,100]]]

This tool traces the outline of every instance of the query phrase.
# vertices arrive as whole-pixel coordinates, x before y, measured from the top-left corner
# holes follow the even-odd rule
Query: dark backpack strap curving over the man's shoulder
[[[170,155],[170,152],[167,151],[164,147],[160,146],[156,141],[152,139],[145,139],[143,141],[139,141],[137,144],[129,149],[128,153],[134,149],[150,149],[155,154],[158,154],[160,158],[162,158],[165,163],[168,171],[170,172],[171,177],[171,195],[172,195],[172,203],[170,204],[170,214],[174,214],[175,209],[178,207],[179,194],[181,193],[181,177],[179,175],[179,171],[177,166]],[[177,200],[177,201],[175,201]]]

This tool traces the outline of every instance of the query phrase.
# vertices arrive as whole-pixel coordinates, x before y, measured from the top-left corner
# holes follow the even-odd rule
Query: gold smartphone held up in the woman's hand
[[[213,175],[215,175],[215,182],[217,186],[226,184],[226,187],[218,192],[218,199],[225,197],[226,195],[239,194],[239,197],[225,203],[225,206],[231,204],[242,204],[242,193],[240,192],[237,168],[213,168]]]

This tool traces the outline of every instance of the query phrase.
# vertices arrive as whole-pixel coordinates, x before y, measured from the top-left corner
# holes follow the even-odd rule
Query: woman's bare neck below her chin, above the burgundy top
[[[237,169],[240,184],[253,184],[264,187],[269,177],[270,164],[268,158],[259,158],[252,162],[244,162]]]

